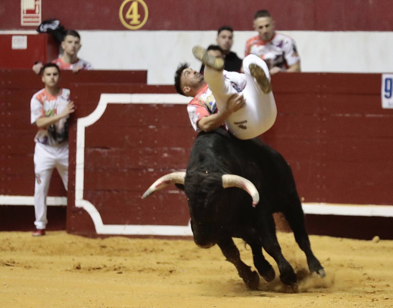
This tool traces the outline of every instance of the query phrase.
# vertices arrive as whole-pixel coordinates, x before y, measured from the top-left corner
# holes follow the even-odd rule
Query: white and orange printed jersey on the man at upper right
[[[278,66],[286,70],[288,66],[300,61],[295,41],[281,33],[275,33],[270,41],[262,41],[259,35],[246,43],[245,55],[254,54],[266,62],[268,68]]]

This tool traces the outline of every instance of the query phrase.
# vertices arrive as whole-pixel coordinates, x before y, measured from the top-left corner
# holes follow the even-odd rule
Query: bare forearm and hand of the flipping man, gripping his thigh
[[[224,109],[220,110],[218,113],[204,116],[198,121],[196,125],[202,131],[212,131],[213,129],[220,127],[220,125],[225,122],[228,116],[244,107],[245,104],[246,101],[242,95],[233,94],[230,98],[228,98]]]

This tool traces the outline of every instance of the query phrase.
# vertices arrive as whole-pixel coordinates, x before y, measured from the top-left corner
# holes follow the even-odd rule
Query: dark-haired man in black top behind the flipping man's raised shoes
[[[222,54],[224,55],[225,65],[224,70],[228,72],[240,72],[242,67],[242,59],[236,53],[231,52],[233,44],[233,29],[230,26],[222,26],[217,31],[217,44],[220,46]],[[210,46],[209,46],[210,47]],[[208,50],[210,50],[208,48]],[[202,65],[200,72],[204,71],[205,66]]]

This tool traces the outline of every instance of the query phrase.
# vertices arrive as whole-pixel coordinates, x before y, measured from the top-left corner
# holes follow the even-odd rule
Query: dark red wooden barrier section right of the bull
[[[380,74],[282,74],[264,140],[292,166],[305,202],[392,204],[393,115]]]

